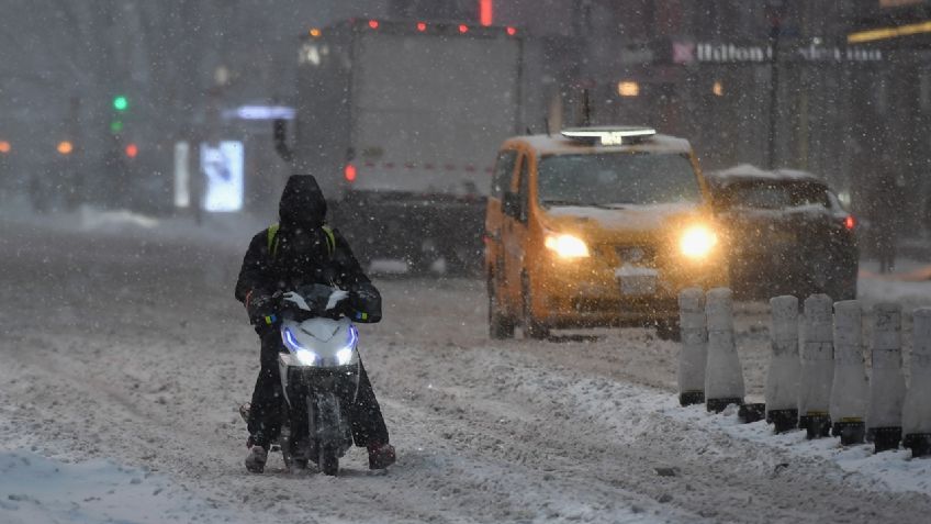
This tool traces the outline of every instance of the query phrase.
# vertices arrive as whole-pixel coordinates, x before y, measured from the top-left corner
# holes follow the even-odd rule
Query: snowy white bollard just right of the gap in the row
[[[770,369],[766,372],[766,422],[776,433],[798,427],[798,299],[770,299],[773,317],[770,333]]]

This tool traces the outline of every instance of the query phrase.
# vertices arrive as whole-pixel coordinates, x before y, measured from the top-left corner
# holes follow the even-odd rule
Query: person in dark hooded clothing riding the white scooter
[[[236,299],[243,302],[261,342],[259,370],[248,414],[249,455],[246,468],[261,472],[268,450],[281,428],[281,380],[278,354],[282,350],[277,316],[284,293],[301,286],[322,283],[349,291],[354,322],[381,320],[381,296],[362,271],[346,239],[326,225],[326,200],[316,179],[293,175],[288,179],[279,205],[280,223],[253,237],[236,282]],[[369,451],[369,467],[381,469],[394,462],[394,447],[374,391],[360,365],[359,390],[352,405],[352,439]]]

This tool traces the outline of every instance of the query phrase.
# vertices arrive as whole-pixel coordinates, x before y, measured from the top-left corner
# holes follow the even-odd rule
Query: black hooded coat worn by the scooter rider
[[[268,228],[249,243],[236,281],[236,300],[248,308],[249,300],[255,298],[312,283],[348,291],[374,290],[349,244],[336,230],[329,230],[330,252],[324,230],[326,200],[314,177],[293,175],[288,179],[278,215],[281,222],[272,249],[269,249]]]

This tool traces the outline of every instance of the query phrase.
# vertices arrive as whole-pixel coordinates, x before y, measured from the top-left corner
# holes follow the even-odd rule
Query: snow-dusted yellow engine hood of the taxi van
[[[655,242],[664,232],[685,223],[705,222],[704,208],[695,203],[626,205],[619,209],[559,205],[546,211],[545,225],[553,231],[577,232],[594,242]]]

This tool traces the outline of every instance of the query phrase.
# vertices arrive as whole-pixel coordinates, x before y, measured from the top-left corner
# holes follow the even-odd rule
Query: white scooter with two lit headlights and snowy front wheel
[[[284,293],[279,355],[282,403],[278,447],[290,471],[316,462],[324,475],[339,471],[352,446],[350,406],[359,387],[359,332],[344,314],[349,293],[312,285]],[[248,421],[248,404],[240,408]]]

